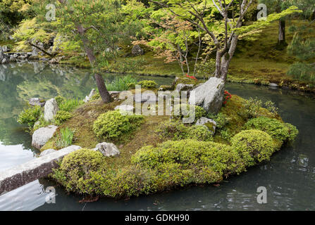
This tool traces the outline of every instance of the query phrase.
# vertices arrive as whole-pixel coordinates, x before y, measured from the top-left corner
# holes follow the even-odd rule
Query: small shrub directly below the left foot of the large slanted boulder
[[[181,120],[183,117],[190,117],[190,107],[194,107],[194,121],[196,122],[201,117],[206,117],[206,110],[198,105],[178,104],[174,106],[173,117],[176,120]],[[182,108],[185,110],[183,111]]]

